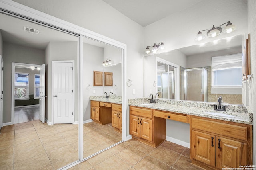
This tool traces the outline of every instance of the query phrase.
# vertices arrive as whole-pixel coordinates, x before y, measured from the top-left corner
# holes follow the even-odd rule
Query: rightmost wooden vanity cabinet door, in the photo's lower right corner
[[[247,165],[247,144],[216,137],[216,168],[239,168]]]

